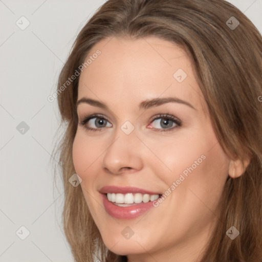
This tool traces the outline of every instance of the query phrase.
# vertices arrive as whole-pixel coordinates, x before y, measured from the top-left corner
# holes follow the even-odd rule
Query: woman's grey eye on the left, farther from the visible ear
[[[112,126],[102,115],[86,116],[79,124],[91,131],[102,131],[104,127]]]

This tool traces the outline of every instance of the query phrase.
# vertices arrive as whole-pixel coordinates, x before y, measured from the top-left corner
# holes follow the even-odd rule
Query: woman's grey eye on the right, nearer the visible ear
[[[156,129],[157,132],[167,132],[182,125],[181,120],[172,115],[159,115],[155,117],[151,123],[154,122],[156,123],[155,127],[150,128]]]

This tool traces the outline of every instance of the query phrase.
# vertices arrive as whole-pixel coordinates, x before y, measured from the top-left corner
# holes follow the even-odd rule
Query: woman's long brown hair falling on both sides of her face
[[[75,173],[72,145],[79,76],[64,83],[79,71],[97,42],[114,36],[157,36],[177,43],[192,59],[223,150],[243,163],[250,158],[242,176],[226,181],[220,222],[200,261],[261,262],[262,37],[240,10],[224,0],[109,0],[78,34],[57,85],[66,130],[55,151],[65,193],[64,231],[75,261],[127,261],[105,247],[81,187],[68,181]],[[226,235],[231,226],[240,232],[233,241]]]

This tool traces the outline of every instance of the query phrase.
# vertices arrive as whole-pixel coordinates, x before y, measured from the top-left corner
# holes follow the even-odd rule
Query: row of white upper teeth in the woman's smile
[[[115,202],[118,204],[139,204],[142,201],[144,203],[148,203],[149,201],[154,201],[159,198],[160,195],[158,194],[141,194],[141,193],[127,193],[127,194],[121,194],[121,193],[107,193],[107,199],[110,202]]]

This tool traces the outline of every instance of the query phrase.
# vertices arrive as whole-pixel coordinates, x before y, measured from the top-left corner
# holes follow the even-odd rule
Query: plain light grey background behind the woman
[[[104,2],[0,0],[1,262],[74,261],[50,161],[59,115],[47,98],[77,33]],[[262,32],[262,0],[229,2]]]

